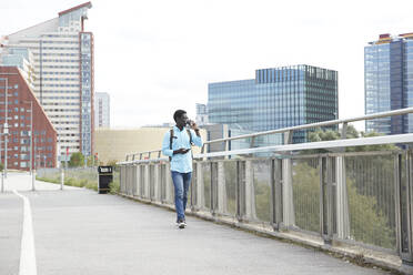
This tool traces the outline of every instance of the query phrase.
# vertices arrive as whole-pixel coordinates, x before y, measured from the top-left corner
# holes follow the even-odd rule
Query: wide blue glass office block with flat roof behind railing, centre
[[[338,119],[338,72],[311,65],[255,71],[255,79],[210,83],[209,120],[242,131],[268,131]],[[306,142],[306,131],[293,142]]]

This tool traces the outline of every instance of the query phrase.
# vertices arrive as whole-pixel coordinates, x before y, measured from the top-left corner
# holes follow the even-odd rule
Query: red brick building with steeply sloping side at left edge
[[[6,79],[8,81],[8,169],[30,169],[30,144],[33,152],[32,167],[57,166],[57,131],[17,67],[0,65],[0,133],[6,116]],[[31,111],[33,135],[31,135]],[[0,135],[1,156],[4,164],[4,135]],[[31,140],[32,138],[32,140]],[[32,142],[31,142],[32,141]]]

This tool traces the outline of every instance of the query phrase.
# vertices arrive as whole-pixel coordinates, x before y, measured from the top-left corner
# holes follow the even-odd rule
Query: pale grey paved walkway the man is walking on
[[[18,274],[21,254],[23,200],[10,189],[30,190],[28,175],[9,180],[0,194],[0,274]],[[178,230],[164,208],[56,186],[19,192],[30,201],[41,275],[387,274],[191,216]]]

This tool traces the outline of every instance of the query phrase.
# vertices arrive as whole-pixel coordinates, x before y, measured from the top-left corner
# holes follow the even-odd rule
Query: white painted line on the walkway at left
[[[13,190],[13,193],[17,196],[20,196],[24,202],[23,234],[21,235],[19,275],[37,275],[33,220],[31,217],[30,201],[26,196],[19,194],[16,190]]]

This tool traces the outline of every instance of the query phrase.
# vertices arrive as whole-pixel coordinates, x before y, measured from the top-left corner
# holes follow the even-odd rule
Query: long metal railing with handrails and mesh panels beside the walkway
[[[243,135],[412,113],[413,108],[350,120]],[[343,134],[345,136],[345,133]],[[219,140],[228,141],[236,138]],[[286,139],[284,141],[289,141]],[[218,141],[209,141],[213,143]],[[381,150],[381,145],[393,144]],[[318,235],[399,255],[413,264],[413,134],[284,144],[195,154],[189,206],[194,214],[274,232]],[[345,152],[361,145],[376,151]],[[397,145],[397,146],[396,146]],[[400,146],[403,145],[403,146]],[[308,153],[308,150],[328,153]],[[356,151],[356,150],[355,150]],[[159,152],[159,151],[152,151]],[[269,156],[258,157],[255,153]],[[313,152],[313,151],[312,151]],[[135,154],[134,154],[135,155]],[[232,159],[222,159],[231,155]],[[120,193],[173,206],[167,157],[120,162]],[[334,241],[334,242],[333,242]]]

